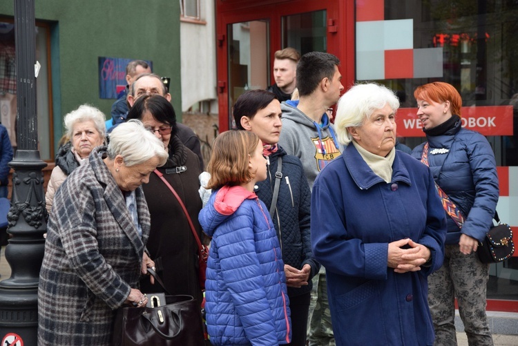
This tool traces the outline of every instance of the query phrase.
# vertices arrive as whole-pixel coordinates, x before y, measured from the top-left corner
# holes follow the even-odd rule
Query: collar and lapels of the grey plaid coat
[[[126,202],[122,191],[117,186],[113,175],[108,170],[108,167],[103,162],[103,156],[106,153],[106,146],[98,146],[94,148],[89,157],[90,166],[92,166],[97,181],[104,186],[104,200],[108,209],[110,209],[113,218],[117,221],[122,231],[126,234],[133,249],[138,256],[142,256],[144,244],[149,237],[150,231],[150,217],[149,211],[142,191],[142,186],[135,191],[137,198],[137,213],[139,222],[142,227],[142,239],[140,239],[137,228],[131,219],[131,215],[126,207]]]

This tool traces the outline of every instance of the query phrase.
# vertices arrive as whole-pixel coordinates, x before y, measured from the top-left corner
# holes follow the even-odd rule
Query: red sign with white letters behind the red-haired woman
[[[398,137],[424,137],[417,108],[399,108],[396,116]],[[485,136],[512,136],[512,106],[462,107],[462,127]]]

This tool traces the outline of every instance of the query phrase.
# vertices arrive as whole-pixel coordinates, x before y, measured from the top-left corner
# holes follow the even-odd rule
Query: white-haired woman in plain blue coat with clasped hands
[[[345,151],[311,193],[336,345],[434,343],[427,277],[443,263],[445,216],[430,169],[394,148],[398,108],[385,86],[348,90],[335,122]]]

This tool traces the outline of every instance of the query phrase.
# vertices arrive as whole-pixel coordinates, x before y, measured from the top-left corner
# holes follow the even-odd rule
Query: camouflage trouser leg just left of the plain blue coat
[[[327,300],[325,268],[313,277],[311,301],[307,317],[307,341],[309,346],[335,346],[331,311]]]

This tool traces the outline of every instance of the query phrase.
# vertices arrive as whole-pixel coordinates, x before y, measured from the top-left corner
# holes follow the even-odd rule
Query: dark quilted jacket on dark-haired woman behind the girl
[[[287,155],[286,151],[279,146],[278,151],[269,156],[270,165],[266,180],[258,182],[254,191],[269,208],[274,193],[275,173],[280,156],[282,156],[282,178],[277,199],[277,211],[273,220],[282,249],[282,260],[297,269],[302,269],[305,264],[311,266],[309,285],[300,288],[288,287],[289,296],[297,296],[311,291],[311,278],[320,269],[320,264],[311,252],[311,233],[309,231],[311,191],[298,157]]]

